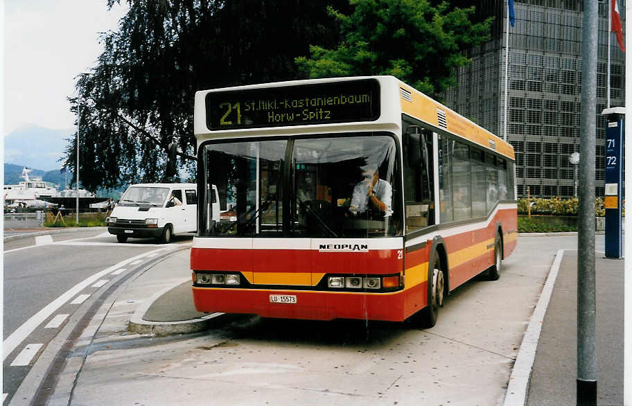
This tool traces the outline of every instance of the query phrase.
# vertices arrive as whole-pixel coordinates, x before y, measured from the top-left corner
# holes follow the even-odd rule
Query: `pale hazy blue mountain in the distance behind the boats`
[[[4,137],[4,161],[18,164],[21,168],[27,166],[44,171],[57,170],[59,173],[62,166],[60,159],[69,143],[66,139],[71,138],[74,132],[74,129],[51,130],[37,125],[21,125]],[[35,171],[33,175],[40,176]],[[7,181],[5,173],[5,183],[13,183]]]

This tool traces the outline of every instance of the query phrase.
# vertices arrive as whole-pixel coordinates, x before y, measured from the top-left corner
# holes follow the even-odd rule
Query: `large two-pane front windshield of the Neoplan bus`
[[[217,186],[221,211],[205,235],[401,234],[401,175],[392,134],[213,142],[203,151],[205,184]]]

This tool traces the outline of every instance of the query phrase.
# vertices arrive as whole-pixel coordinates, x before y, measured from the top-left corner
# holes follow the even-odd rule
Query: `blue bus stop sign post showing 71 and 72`
[[[622,258],[622,151],[625,127],[625,107],[613,107],[602,112],[608,118],[606,127],[606,258]]]

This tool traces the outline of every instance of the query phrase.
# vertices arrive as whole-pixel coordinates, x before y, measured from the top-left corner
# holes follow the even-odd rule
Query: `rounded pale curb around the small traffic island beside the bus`
[[[200,331],[204,331],[209,328],[211,319],[225,315],[225,313],[211,313],[198,319],[180,321],[147,321],[143,319],[147,310],[163,294],[190,279],[191,278],[186,278],[174,285],[167,286],[166,288],[153,294],[150,299],[143,301],[142,305],[134,311],[134,315],[132,315],[132,319],[130,319],[130,323],[128,324],[128,331],[139,334],[150,334],[156,337],[200,333]]]

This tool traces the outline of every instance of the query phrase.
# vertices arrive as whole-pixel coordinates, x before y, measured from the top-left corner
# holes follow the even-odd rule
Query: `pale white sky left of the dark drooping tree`
[[[5,0],[3,136],[21,125],[74,127],[66,100],[75,77],[96,66],[100,34],[116,30],[127,3],[106,0]]]

